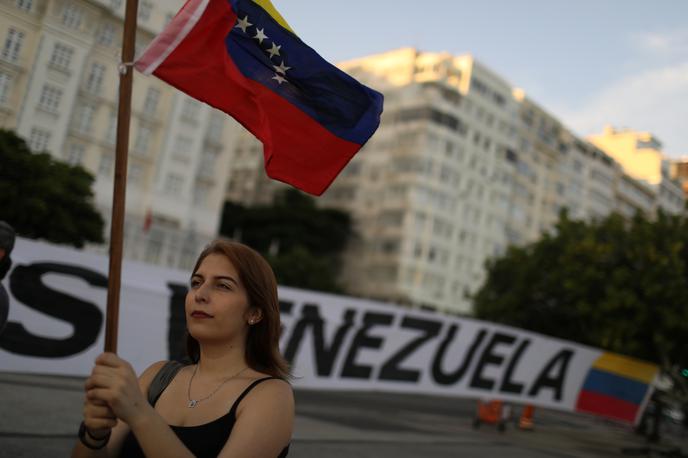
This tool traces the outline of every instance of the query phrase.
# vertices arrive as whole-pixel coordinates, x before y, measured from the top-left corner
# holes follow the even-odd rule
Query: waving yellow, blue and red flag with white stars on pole
[[[320,195],[373,135],[382,95],[302,42],[269,0],[188,0],[136,62],[234,117],[265,170]]]

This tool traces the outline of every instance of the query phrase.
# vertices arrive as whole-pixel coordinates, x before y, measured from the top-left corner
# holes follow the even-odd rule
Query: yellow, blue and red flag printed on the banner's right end
[[[653,364],[603,353],[585,378],[576,410],[633,423],[656,375]]]

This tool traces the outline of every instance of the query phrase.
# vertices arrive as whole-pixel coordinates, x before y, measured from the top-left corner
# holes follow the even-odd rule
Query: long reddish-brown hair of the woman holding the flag
[[[289,365],[279,351],[281,331],[277,280],[270,264],[246,245],[218,239],[210,243],[198,256],[193,274],[210,254],[225,256],[239,274],[239,281],[246,290],[249,307],[262,312],[258,323],[249,327],[246,338],[246,362],[254,370],[273,377],[289,378]],[[188,332],[186,351],[192,362],[200,358],[200,346]]]

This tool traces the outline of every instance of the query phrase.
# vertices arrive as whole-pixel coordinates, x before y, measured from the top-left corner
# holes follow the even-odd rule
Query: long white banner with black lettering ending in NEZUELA
[[[0,370],[88,374],[103,348],[107,258],[26,239],[12,257]],[[119,354],[138,372],[183,356],[189,275],[124,262]],[[296,387],[503,399],[634,421],[657,371],[479,320],[288,287],[279,297]]]

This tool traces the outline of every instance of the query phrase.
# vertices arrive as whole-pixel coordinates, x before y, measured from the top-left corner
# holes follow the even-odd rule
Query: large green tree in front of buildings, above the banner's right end
[[[669,367],[688,363],[688,220],[562,214],[554,234],[487,263],[479,318]]]

